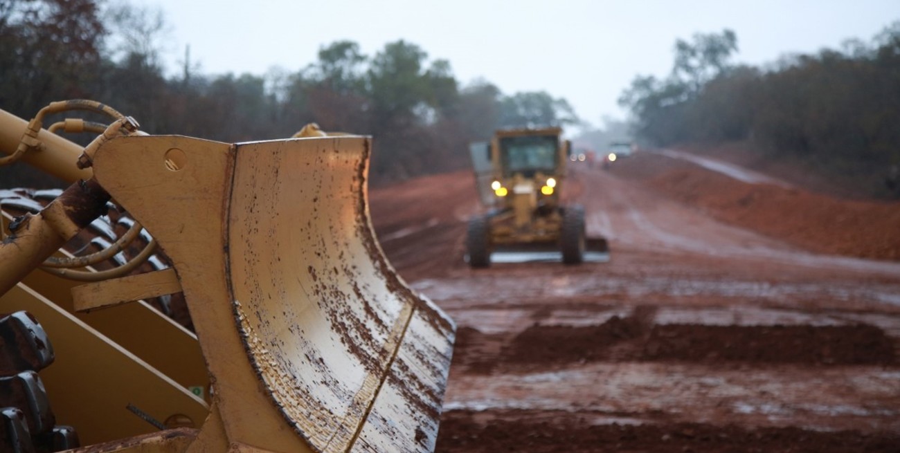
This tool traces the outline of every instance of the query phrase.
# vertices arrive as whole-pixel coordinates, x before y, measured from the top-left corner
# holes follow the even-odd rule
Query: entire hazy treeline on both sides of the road
[[[0,109],[30,119],[52,101],[94,99],[149,133],[225,142],[287,138],[316,122],[374,136],[375,183],[465,168],[468,143],[494,129],[584,125],[545,91],[462,84],[449,62],[404,40],[374,55],[332,42],[302,69],[264,75],[204,75],[185,56],[179,74],[166,76],[166,27],[159,11],[130,4],[0,0]],[[635,138],[650,147],[736,144],[858,193],[900,196],[900,22],[868,43],[765,67],[733,65],[737,49],[732,31],[696,34],[676,42],[669,76],[635,77],[619,100]],[[581,142],[604,147],[627,135],[621,122],[603,129]],[[23,166],[0,167],[0,183],[59,185]]]

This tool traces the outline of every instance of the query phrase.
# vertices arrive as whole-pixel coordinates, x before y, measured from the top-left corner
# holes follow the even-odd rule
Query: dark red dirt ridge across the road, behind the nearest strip
[[[512,338],[457,332],[454,367],[491,374],[598,361],[896,364],[894,342],[874,325],[652,324],[617,315],[587,326],[534,324]]]

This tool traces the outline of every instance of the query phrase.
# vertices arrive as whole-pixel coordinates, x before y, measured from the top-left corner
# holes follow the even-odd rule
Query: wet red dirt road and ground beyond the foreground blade
[[[819,217],[791,244],[740,220],[797,189],[634,159],[567,180],[604,263],[470,270],[467,172],[370,193],[385,253],[458,325],[437,450],[900,451],[900,262],[807,251]],[[729,217],[738,189],[761,201]]]

